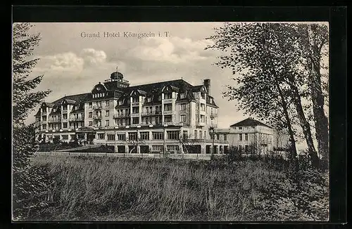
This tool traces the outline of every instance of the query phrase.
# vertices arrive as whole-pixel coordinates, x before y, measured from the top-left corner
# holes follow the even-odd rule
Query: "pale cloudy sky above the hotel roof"
[[[40,58],[32,75],[44,74],[38,89],[51,89],[46,98],[52,102],[62,96],[86,93],[99,81],[108,79],[118,66],[131,86],[156,81],[184,79],[190,84],[211,81],[211,95],[218,103],[220,128],[245,119],[237,111],[235,101],[222,98],[227,84],[234,84],[230,70],[213,63],[220,54],[204,48],[213,28],[222,23],[34,23],[32,32],[40,32],[42,40],[34,51]],[[87,37],[100,34],[100,38]],[[103,37],[103,33],[120,37]],[[158,37],[158,34],[162,37]],[[165,37],[168,32],[168,37]],[[125,37],[125,33],[153,33],[156,37]],[[85,34],[85,36],[84,36]],[[127,35],[127,34],[126,34]],[[34,114],[34,113],[33,113]],[[31,114],[28,122],[33,122]]]

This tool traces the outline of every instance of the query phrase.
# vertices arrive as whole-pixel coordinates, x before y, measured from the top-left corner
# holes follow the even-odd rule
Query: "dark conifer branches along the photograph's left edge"
[[[34,125],[25,126],[25,119],[49,93],[32,91],[43,76],[27,79],[38,60],[30,60],[30,55],[40,40],[39,34],[30,34],[30,27],[29,23],[13,25],[13,219],[25,217],[30,209],[45,207],[41,197],[51,183],[45,168],[30,166],[38,145]]]

